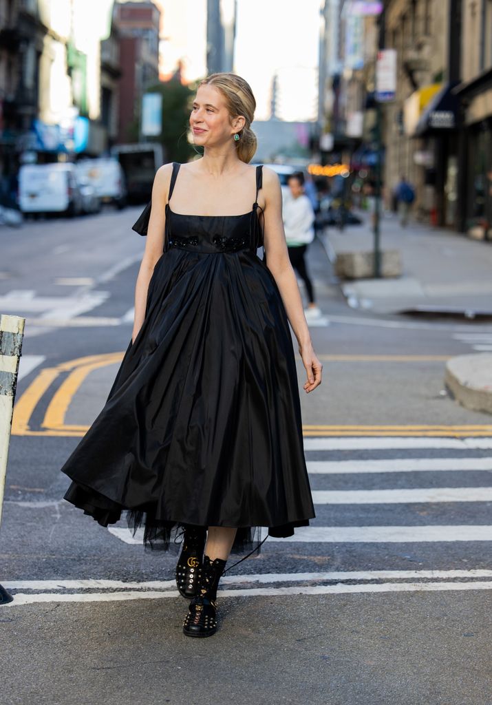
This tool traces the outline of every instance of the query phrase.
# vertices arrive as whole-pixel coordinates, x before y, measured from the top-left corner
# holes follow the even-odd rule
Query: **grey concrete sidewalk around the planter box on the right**
[[[341,252],[370,251],[373,233],[367,213],[360,226],[327,228],[323,238],[333,259]],[[410,222],[384,213],[381,249],[399,250],[402,276],[340,282],[349,305],[391,314],[414,307],[449,307],[492,315],[492,244],[461,233]]]

